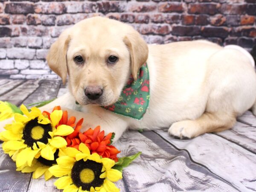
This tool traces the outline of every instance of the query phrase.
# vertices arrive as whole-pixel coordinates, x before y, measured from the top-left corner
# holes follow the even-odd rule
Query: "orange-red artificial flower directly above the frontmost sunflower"
[[[103,158],[110,158],[114,161],[118,161],[116,155],[120,153],[111,143],[112,133],[105,136],[105,131],[100,131],[100,126],[97,126],[94,130],[88,129],[84,133],[80,133],[81,127],[76,127],[75,131],[65,136],[68,147],[79,148],[80,143],[84,143],[90,150],[91,154],[97,153]]]

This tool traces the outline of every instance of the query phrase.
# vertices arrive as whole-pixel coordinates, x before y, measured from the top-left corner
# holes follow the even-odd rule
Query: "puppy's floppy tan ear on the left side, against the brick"
[[[63,84],[67,79],[67,48],[70,41],[69,29],[61,33],[57,41],[55,41],[47,54],[46,60],[49,67],[61,77]]]

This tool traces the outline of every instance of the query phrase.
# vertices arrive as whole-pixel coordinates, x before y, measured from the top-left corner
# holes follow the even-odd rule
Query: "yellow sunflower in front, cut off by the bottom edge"
[[[84,143],[76,148],[66,148],[66,156],[57,159],[57,165],[49,168],[58,189],[63,192],[119,192],[114,183],[122,179],[122,173],[112,169],[115,161],[90,154]]]

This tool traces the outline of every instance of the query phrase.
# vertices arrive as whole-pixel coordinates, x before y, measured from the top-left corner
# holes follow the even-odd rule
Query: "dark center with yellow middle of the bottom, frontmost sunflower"
[[[93,186],[100,187],[104,182],[104,178],[99,178],[102,174],[102,163],[97,163],[92,160],[79,160],[77,161],[72,170],[71,178],[73,183],[82,190],[90,191]]]

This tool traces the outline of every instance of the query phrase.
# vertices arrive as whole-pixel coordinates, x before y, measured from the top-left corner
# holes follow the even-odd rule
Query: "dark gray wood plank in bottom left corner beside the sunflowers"
[[[31,174],[16,171],[12,159],[3,153],[0,144],[0,191],[26,192]]]

